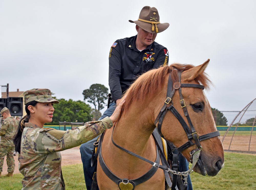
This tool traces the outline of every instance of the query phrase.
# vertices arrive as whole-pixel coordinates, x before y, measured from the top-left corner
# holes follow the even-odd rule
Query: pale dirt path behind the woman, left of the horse
[[[14,156],[14,160],[15,160],[14,173],[19,173],[18,154]],[[65,151],[61,151],[61,165],[65,166],[65,165],[72,165],[72,164],[82,164],[79,147],[74,147]],[[5,175],[7,173],[8,172],[7,172],[6,157],[5,157],[2,175]]]

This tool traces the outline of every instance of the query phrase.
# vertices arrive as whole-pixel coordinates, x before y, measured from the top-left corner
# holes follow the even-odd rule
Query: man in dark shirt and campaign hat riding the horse
[[[169,26],[169,23],[160,23],[158,10],[155,7],[145,6],[142,8],[138,20],[129,20],[129,22],[136,24],[137,35],[118,39],[110,48],[109,86],[112,100],[101,118],[113,113],[123,93],[138,76],[159,66],[168,65],[167,48],[155,42],[157,33],[163,32]],[[96,171],[96,166],[91,167],[93,143],[96,141],[95,138],[80,147],[87,189],[91,189],[93,174]],[[179,171],[188,170],[188,162],[181,154],[179,163]],[[187,182],[188,190],[191,190],[192,183],[189,176]]]

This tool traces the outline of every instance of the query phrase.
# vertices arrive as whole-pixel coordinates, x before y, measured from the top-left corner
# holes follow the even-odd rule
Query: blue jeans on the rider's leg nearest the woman
[[[103,113],[103,115],[99,118],[99,120],[110,117],[114,111],[115,111],[115,103],[109,104],[109,108],[106,109],[106,111]],[[98,137],[95,137],[94,139],[82,144],[80,146],[80,153],[81,153],[81,159],[83,162],[83,173],[84,173],[84,181],[87,190],[91,189],[92,186],[92,177],[94,172],[97,171],[97,164],[93,167],[91,167],[91,157],[93,152],[93,143],[97,141]]]

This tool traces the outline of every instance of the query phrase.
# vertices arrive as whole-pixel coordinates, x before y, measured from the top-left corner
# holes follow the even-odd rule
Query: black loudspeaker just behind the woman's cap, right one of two
[[[8,97],[7,105],[11,116],[23,115],[23,97]]]

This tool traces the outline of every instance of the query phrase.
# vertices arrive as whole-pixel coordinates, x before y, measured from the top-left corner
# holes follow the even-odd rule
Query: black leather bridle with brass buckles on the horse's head
[[[183,72],[182,70],[178,71],[179,81],[175,82],[174,84],[172,82],[171,72],[170,72],[170,75],[169,75],[169,78],[168,78],[166,100],[164,101],[164,105],[161,108],[159,114],[157,115],[157,117],[155,119],[155,125],[158,122],[158,124],[157,124],[158,133],[161,135],[161,137],[164,138],[164,136],[163,136],[163,134],[161,132],[162,122],[163,122],[163,119],[164,119],[164,116],[165,116],[166,112],[168,110],[170,110],[173,113],[173,115],[178,119],[179,123],[182,125],[184,131],[186,132],[187,137],[188,137],[188,142],[186,142],[185,144],[183,144],[182,146],[180,146],[178,148],[176,148],[173,145],[173,143],[168,141],[168,140],[167,140],[167,144],[172,147],[172,150],[176,149],[179,153],[182,152],[183,150],[185,150],[186,148],[196,144],[197,148],[190,152],[189,160],[192,163],[192,166],[190,167],[190,169],[188,171],[185,171],[185,172],[177,172],[177,171],[174,171],[174,170],[169,170],[168,171],[168,172],[176,174],[176,175],[183,175],[183,176],[185,176],[185,182],[186,182],[188,174],[191,173],[191,171],[193,170],[193,168],[196,165],[196,162],[199,159],[200,151],[202,149],[202,147],[200,145],[200,141],[203,141],[203,140],[206,140],[206,139],[210,139],[210,138],[213,138],[213,137],[217,137],[217,136],[220,135],[220,132],[219,131],[214,131],[214,132],[210,132],[210,133],[198,136],[198,134],[197,134],[197,132],[196,132],[196,130],[195,130],[191,120],[190,120],[190,117],[188,115],[187,107],[186,107],[185,101],[184,101],[182,93],[181,93],[181,87],[191,87],[191,88],[201,88],[201,89],[204,89],[204,86],[203,85],[199,85],[199,84],[181,84],[180,81],[181,81],[181,74],[182,74],[182,72]],[[188,121],[188,124],[189,124],[191,130],[189,129],[188,125],[186,124],[186,122],[184,121],[182,116],[178,113],[178,111],[173,106],[172,97],[174,95],[175,90],[179,91],[180,105],[181,105],[181,107],[183,109],[184,115],[187,118],[187,121]],[[171,104],[171,105],[167,107],[168,104]],[[192,140],[194,140],[195,143],[193,143]]]

